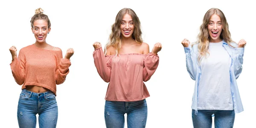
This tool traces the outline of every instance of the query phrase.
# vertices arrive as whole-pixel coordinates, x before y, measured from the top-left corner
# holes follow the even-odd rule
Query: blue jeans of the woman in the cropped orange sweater
[[[17,118],[20,128],[35,128],[36,114],[40,128],[56,128],[58,106],[51,91],[34,93],[23,89],[20,93]]]

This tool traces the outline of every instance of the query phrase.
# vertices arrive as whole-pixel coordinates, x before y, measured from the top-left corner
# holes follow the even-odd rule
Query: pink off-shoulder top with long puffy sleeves
[[[94,50],[93,58],[99,76],[109,82],[105,100],[131,102],[150,96],[143,81],[148,81],[156,71],[158,55],[104,55],[100,47]]]

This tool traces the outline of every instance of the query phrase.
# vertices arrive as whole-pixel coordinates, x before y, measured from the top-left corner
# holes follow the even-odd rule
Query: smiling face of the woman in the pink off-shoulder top
[[[122,38],[132,38],[134,32],[134,22],[131,18],[131,15],[125,14],[122,17],[122,22],[120,25]]]

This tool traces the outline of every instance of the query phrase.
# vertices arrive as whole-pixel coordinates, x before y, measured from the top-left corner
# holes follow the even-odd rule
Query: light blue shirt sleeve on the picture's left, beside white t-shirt
[[[195,47],[195,46],[194,46]],[[189,47],[184,47],[185,54],[186,54],[186,69],[190,75],[190,77],[195,80],[196,73],[198,70],[197,67],[197,55],[193,51],[192,47],[189,45]]]

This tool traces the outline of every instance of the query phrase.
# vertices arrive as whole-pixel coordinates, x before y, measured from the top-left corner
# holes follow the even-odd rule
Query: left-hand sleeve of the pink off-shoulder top
[[[105,56],[102,47],[95,49],[93,52],[93,59],[95,67],[99,73],[99,76],[105,81],[110,81],[111,76],[111,60],[112,56]]]

